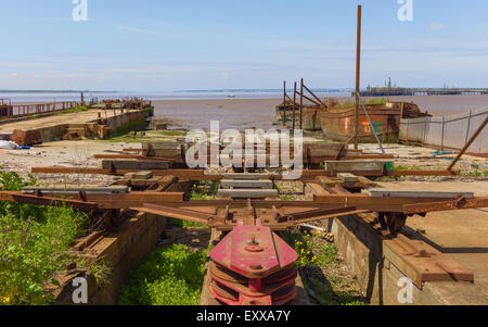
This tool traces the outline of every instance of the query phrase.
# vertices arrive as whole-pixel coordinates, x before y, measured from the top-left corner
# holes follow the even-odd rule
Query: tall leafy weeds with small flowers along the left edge
[[[0,172],[2,191],[35,183]],[[43,285],[74,261],[67,251],[88,230],[88,216],[68,207],[0,202],[0,304],[48,304],[53,299]]]

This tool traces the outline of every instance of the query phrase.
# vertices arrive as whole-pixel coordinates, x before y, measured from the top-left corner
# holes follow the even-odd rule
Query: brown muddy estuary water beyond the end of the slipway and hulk
[[[339,98],[341,102],[354,101]],[[364,99],[367,100],[367,99]],[[391,101],[416,103],[422,111],[435,116],[453,115],[488,106],[488,96],[421,96],[391,97]],[[226,100],[156,100],[155,116],[170,118],[171,129],[210,128],[210,121],[219,121],[220,129],[278,128],[275,105],[282,99],[226,99]]]

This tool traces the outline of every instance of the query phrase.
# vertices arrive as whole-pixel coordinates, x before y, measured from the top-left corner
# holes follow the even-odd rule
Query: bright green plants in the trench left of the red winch
[[[120,290],[120,305],[198,305],[206,251],[172,244],[150,253]]]

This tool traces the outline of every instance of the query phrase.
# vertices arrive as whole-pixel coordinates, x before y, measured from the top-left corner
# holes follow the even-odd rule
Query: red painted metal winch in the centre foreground
[[[210,257],[210,292],[224,304],[282,305],[296,297],[298,255],[259,219],[240,221]]]

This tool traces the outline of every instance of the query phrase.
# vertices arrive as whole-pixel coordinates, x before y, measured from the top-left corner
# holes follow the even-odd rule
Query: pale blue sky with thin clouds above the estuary
[[[355,85],[487,87],[488,1],[0,0],[0,89],[180,90]]]

